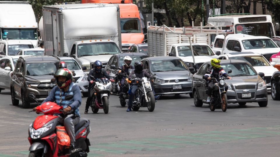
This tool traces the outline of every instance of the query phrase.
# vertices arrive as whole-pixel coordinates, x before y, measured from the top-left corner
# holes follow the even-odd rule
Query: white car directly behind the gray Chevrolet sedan
[[[220,55],[218,59],[238,59],[247,61],[258,73],[262,72],[265,74],[262,79],[267,85],[267,90],[271,90],[271,76],[274,72],[278,71],[278,69],[273,67],[273,65],[275,65],[274,62],[269,63],[261,54],[253,52],[232,52]],[[240,69],[240,71],[243,71],[243,69]]]

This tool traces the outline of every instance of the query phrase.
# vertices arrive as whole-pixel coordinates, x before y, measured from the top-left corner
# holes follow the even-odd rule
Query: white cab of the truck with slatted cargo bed
[[[217,58],[209,47],[204,43],[192,43],[195,61],[192,58],[192,51],[189,43],[172,44],[168,56],[176,56],[181,58],[188,67],[199,69],[201,65],[212,58]],[[195,63],[195,65],[194,65]]]

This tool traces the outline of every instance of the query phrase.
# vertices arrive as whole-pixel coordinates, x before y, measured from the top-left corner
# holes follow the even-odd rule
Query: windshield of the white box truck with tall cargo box
[[[78,56],[106,55],[120,53],[114,42],[96,42],[78,45]]]

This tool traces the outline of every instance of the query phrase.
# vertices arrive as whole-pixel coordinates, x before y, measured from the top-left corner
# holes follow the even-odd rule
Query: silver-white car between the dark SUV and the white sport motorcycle
[[[84,97],[88,97],[88,75],[82,70],[78,62],[72,57],[59,57],[61,61],[64,61],[67,65],[67,69],[74,70],[75,84],[80,87],[80,90]]]

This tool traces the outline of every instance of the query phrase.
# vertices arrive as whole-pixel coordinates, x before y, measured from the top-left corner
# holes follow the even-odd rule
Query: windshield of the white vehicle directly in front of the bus
[[[245,50],[248,49],[267,49],[277,48],[276,44],[271,39],[248,39],[242,40]]]

